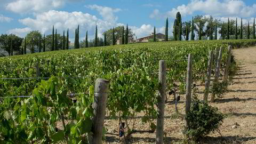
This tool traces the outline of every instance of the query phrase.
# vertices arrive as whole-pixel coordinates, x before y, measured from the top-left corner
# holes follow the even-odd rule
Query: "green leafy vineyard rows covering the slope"
[[[193,55],[193,84],[203,84],[209,51],[222,47],[221,67],[225,68],[228,45],[255,44],[252,39],[156,42],[0,58],[0,143],[86,143],[93,125],[97,78],[109,80],[109,119],[125,122],[129,134],[134,132],[132,119],[140,115],[154,132],[159,60],[167,65],[166,92],[177,89],[184,94],[188,54]],[[230,76],[235,70],[233,60]]]

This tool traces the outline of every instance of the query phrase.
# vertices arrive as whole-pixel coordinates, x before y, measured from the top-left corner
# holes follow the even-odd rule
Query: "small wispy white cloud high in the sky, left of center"
[[[97,10],[100,15],[102,16],[103,20],[106,20],[108,22],[116,22],[118,17],[114,15],[114,13],[121,11],[121,9],[113,9],[111,7],[107,6],[99,6],[99,5],[87,5],[85,7],[88,7],[92,10]]]

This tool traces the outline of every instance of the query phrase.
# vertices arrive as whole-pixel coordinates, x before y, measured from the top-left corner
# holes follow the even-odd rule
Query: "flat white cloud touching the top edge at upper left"
[[[44,12],[59,8],[66,3],[66,0],[17,0],[6,5],[6,10],[15,13]]]

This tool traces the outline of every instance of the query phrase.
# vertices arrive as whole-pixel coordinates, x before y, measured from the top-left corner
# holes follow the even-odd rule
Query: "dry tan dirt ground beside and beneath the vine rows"
[[[229,92],[221,100],[211,103],[218,107],[228,117],[220,126],[220,133],[211,133],[201,143],[256,143],[256,47],[237,49],[233,51],[235,59],[240,67],[229,85]],[[204,90],[204,86],[199,86]],[[202,99],[200,94],[199,98]],[[170,98],[172,99],[172,98]],[[178,105],[179,113],[185,113],[185,97],[181,95]],[[164,132],[165,143],[181,143],[183,139],[184,119],[175,117],[173,102],[167,102],[165,106]],[[156,123],[156,122],[155,122]],[[234,124],[239,126],[234,128]],[[108,129],[104,143],[118,143],[118,121],[106,119],[105,126]],[[135,130],[150,130],[148,124],[142,124],[141,118],[135,118]],[[135,133],[130,138],[130,143],[155,143],[156,133]]]

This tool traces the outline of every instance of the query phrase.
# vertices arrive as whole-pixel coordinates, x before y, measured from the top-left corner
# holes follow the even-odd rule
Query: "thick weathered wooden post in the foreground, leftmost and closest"
[[[96,80],[93,102],[93,144],[102,143],[102,130],[108,99],[108,87],[108,80],[102,78]]]

